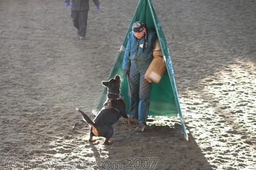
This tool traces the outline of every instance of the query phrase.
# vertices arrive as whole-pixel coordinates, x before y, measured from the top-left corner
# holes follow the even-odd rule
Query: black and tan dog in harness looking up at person
[[[84,112],[80,111],[79,108],[76,109],[82,114],[84,121],[90,125],[89,142],[92,142],[93,136],[96,136],[106,138],[104,143],[109,144],[109,139],[114,134],[112,125],[121,116],[126,119],[127,124],[130,126],[129,118],[125,112],[125,101],[120,95],[120,83],[121,79],[119,75],[116,75],[108,82],[102,82],[103,86],[108,88],[107,99],[104,103],[104,108],[98,112],[93,121]]]

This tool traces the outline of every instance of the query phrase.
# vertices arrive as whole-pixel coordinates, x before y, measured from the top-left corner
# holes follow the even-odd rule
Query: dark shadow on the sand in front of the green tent
[[[111,145],[103,145],[98,138],[90,144],[97,163],[113,166],[112,169],[212,169],[192,134],[189,141],[183,137],[181,125],[150,122],[143,132],[136,125],[127,127],[117,122]],[[189,129],[188,129],[189,130]],[[102,142],[96,142],[96,141]],[[99,150],[102,145],[102,150]],[[209,148],[210,149],[210,148]],[[106,158],[102,159],[102,152]],[[109,167],[104,167],[109,168]]]

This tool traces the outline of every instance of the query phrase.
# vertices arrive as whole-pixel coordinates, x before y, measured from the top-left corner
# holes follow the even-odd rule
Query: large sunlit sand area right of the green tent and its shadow
[[[225,169],[254,164],[255,72],[255,63],[234,60],[201,80],[201,91],[181,94],[185,121],[212,165]]]

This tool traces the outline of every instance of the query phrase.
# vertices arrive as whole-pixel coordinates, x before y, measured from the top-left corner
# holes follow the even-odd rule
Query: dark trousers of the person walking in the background
[[[87,19],[88,19],[88,10],[83,11],[71,11],[71,18],[73,19],[73,25],[77,29],[77,33],[81,37],[86,35]]]

